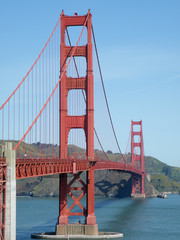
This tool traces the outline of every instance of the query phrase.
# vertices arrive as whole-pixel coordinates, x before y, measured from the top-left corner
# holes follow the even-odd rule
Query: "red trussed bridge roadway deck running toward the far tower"
[[[0,159],[0,162],[4,159]],[[73,173],[87,171],[94,165],[95,170],[119,170],[127,173],[142,175],[142,172],[133,168],[131,164],[113,161],[86,159],[16,159],[16,179]]]

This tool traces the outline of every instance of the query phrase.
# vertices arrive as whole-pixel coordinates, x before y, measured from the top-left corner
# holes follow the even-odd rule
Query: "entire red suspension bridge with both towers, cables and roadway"
[[[75,45],[70,28],[81,27]],[[93,46],[114,138],[121,154],[110,161],[94,127]],[[102,119],[103,121],[103,119]],[[132,175],[132,196],[145,197],[142,121],[131,122],[131,161],[122,154],[104,87],[92,15],[62,11],[38,58],[0,107],[0,236],[6,233],[7,145],[15,153],[16,179],[59,174],[57,235],[77,227],[70,216],[84,216],[83,234],[98,235],[94,211],[94,171],[119,170]],[[138,130],[137,130],[138,129]],[[18,139],[18,140],[17,140]],[[96,155],[94,139],[103,154]],[[76,146],[76,147],[75,147]],[[86,180],[81,174],[86,172]],[[68,181],[67,174],[72,174]],[[78,183],[78,184],[77,184]],[[81,186],[79,186],[81,185]],[[72,204],[69,206],[69,198]],[[81,199],[86,198],[86,206]],[[78,206],[79,211],[73,209]],[[73,232],[74,231],[74,232]],[[6,237],[7,240],[7,237]]]

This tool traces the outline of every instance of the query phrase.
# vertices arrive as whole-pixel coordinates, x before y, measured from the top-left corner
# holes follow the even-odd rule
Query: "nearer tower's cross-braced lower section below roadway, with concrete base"
[[[74,174],[67,182],[67,174],[60,175],[60,214],[56,226],[56,235],[98,235],[98,225],[94,213],[94,166],[86,172],[86,181],[81,178],[81,173]],[[73,203],[67,206],[67,195]],[[80,200],[86,195],[86,208]],[[80,211],[72,211],[79,207]],[[69,216],[84,216],[85,224],[69,224]]]

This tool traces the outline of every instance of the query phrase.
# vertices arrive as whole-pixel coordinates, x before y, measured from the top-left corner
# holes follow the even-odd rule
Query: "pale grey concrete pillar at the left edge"
[[[5,143],[7,162],[5,239],[16,240],[16,152],[12,143]]]

